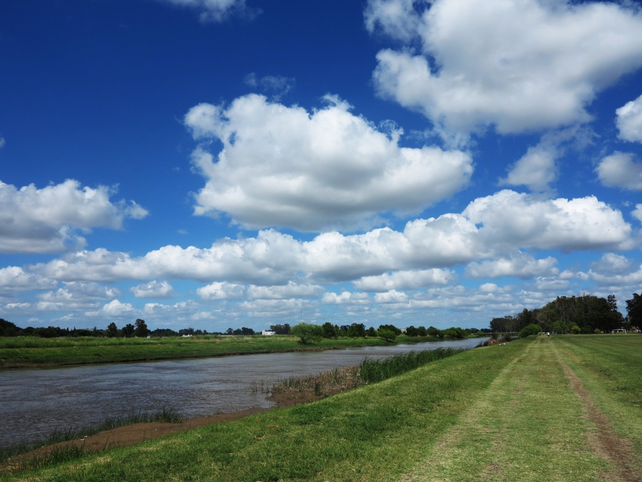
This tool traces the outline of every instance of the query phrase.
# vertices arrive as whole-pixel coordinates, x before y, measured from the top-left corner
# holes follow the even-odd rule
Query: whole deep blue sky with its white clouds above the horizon
[[[642,12],[0,6],[0,317],[485,328],[642,290]]]

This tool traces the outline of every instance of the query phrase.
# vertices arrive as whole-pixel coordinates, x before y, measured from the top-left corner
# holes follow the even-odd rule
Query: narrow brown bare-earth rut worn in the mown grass
[[[573,390],[584,403],[587,419],[593,422],[597,429],[590,439],[594,454],[619,467],[616,473],[607,474],[609,480],[614,482],[642,482],[640,474],[636,474],[636,471],[632,469],[634,452],[630,443],[613,432],[607,418],[595,406],[591,396],[582,385],[582,381],[573,373],[573,370],[564,365],[564,371],[566,371],[566,376],[571,380]]]

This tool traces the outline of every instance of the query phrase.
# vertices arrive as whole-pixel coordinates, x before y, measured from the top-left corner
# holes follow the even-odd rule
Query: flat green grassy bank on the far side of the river
[[[397,337],[397,343],[438,341],[435,337]],[[193,357],[214,357],[244,353],[294,352],[297,350],[329,350],[354,346],[385,346],[381,338],[323,339],[318,343],[301,344],[297,337],[222,336],[162,338],[98,338],[98,337],[0,337],[0,369],[39,365],[123,362]]]

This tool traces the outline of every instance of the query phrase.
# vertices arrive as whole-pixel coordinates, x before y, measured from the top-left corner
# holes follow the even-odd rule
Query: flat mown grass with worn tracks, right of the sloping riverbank
[[[637,354],[628,357],[632,350]],[[535,339],[403,480],[641,481],[641,352],[642,337]],[[632,397],[609,388],[632,374]],[[576,375],[581,383],[573,382]],[[600,411],[593,398],[602,400]],[[613,427],[620,427],[615,451]]]

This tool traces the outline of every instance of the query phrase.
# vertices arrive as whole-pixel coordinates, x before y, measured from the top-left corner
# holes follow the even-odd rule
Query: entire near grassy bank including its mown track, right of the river
[[[641,348],[636,335],[530,337],[0,480],[636,481]]]

